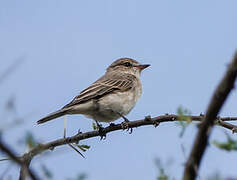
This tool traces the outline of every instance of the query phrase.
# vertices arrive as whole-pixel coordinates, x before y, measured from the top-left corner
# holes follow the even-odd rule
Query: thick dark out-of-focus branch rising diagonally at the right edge
[[[194,180],[197,176],[197,172],[200,166],[202,156],[205,152],[208,139],[211,133],[211,129],[214,125],[215,119],[224,104],[226,98],[228,97],[230,91],[234,88],[234,82],[237,75],[237,52],[233,58],[232,63],[229,65],[229,68],[216,88],[210,104],[207,108],[206,115],[204,117],[203,123],[201,123],[200,129],[196,136],[192,151],[188,158],[185,171],[184,171],[184,180]],[[219,123],[222,126],[226,126],[223,123]],[[228,126],[230,127],[230,126]],[[230,127],[231,128],[231,127]],[[233,129],[233,128],[232,128]]]

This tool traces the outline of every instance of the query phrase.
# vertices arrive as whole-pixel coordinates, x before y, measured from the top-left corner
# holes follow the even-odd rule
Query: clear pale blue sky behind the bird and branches
[[[0,84],[0,123],[11,119],[3,113],[11,96],[16,98],[19,116],[33,112],[24,125],[5,131],[3,138],[20,154],[25,147],[16,140],[26,130],[41,142],[61,138],[63,118],[41,126],[36,121],[71,101],[120,57],[151,64],[142,73],[143,95],[128,119],[176,113],[180,105],[193,115],[205,112],[237,48],[236,7],[236,0],[1,0],[0,74],[17,58],[25,61]],[[234,91],[222,116],[237,116],[236,100]],[[67,118],[68,135],[92,129],[92,121],[83,116]],[[157,128],[134,129],[131,135],[118,131],[108,134],[105,141],[83,141],[91,146],[84,153],[86,159],[63,146],[47,157],[36,157],[32,167],[39,172],[39,165],[46,164],[53,179],[85,172],[88,180],[143,180],[157,177],[155,158],[164,164],[173,159],[173,164],[165,167],[178,180],[197,129],[190,126],[181,139],[180,130],[175,123],[163,123]],[[225,132],[231,135],[216,127],[211,139],[224,141]],[[205,179],[214,172],[237,177],[236,161],[236,152],[211,145],[200,177]],[[0,163],[0,174],[7,165]],[[9,174],[18,177],[19,172],[13,168]]]

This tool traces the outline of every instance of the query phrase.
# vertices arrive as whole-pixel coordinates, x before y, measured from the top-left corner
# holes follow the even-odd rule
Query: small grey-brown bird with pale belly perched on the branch
[[[37,121],[45,123],[66,114],[82,114],[98,122],[124,120],[142,93],[141,71],[150,66],[130,58],[114,61],[106,73],[69,104]]]

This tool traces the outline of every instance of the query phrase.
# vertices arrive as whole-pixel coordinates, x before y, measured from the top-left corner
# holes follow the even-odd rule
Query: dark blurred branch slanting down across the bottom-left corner
[[[11,150],[8,148],[3,142],[0,140],[0,150],[4,153],[6,153],[13,161],[15,161],[17,164],[21,166],[21,169],[24,171],[24,173],[21,173],[20,179],[25,179],[27,174],[31,177],[33,180],[37,180],[38,178],[35,176],[35,174],[32,172],[32,170],[29,169],[29,164],[27,165],[26,162],[24,162],[21,158],[18,158]],[[24,175],[24,177],[23,177]]]

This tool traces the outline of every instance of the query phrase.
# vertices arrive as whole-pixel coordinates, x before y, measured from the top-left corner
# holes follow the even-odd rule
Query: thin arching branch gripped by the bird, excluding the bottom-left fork
[[[201,116],[182,116],[183,118],[190,118],[192,121],[200,122],[203,119],[203,115]],[[127,123],[128,128],[137,128],[140,126],[147,126],[147,125],[153,125],[158,126],[160,123],[163,122],[174,122],[174,121],[180,121],[180,116],[177,115],[163,115],[163,116],[157,116],[154,118],[150,118],[147,116],[145,119],[137,120],[137,121],[130,121]],[[221,120],[222,122],[225,121],[236,121],[237,117],[224,117],[224,118],[218,118],[216,121]],[[101,134],[106,136],[106,134],[118,131],[118,130],[124,130],[123,123],[121,124],[113,124],[109,125],[106,128],[103,128],[102,131],[89,131],[85,133],[79,132],[75,136],[67,137],[67,138],[61,138],[57,139],[52,142],[48,142],[45,144],[39,144],[35,148],[31,149],[29,152],[25,153],[23,155],[24,159],[28,159],[30,161],[32,158],[34,158],[36,155],[46,151],[46,150],[53,150],[55,147],[70,144],[70,143],[78,143],[80,140],[89,139],[92,137],[101,137]]]

